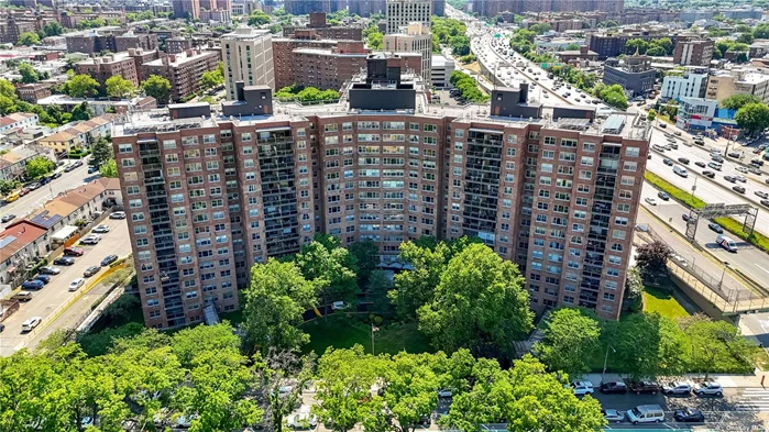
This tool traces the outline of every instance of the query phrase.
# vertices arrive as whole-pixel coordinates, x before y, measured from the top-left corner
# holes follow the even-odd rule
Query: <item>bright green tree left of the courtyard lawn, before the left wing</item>
[[[294,263],[270,258],[251,267],[251,286],[242,291],[243,330],[249,347],[298,350],[309,341],[297,325],[316,304],[316,286]]]

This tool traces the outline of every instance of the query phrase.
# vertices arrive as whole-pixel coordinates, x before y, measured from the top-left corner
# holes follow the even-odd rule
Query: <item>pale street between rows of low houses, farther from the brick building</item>
[[[75,168],[69,173],[64,173],[62,177],[54,179],[50,184],[31,191],[13,202],[2,201],[3,203],[0,204],[0,215],[15,214],[17,218],[0,226],[19,221],[33,210],[40,209],[45,202],[65,190],[75,189],[97,178],[99,178],[99,174],[88,174],[88,164],[83,164],[81,167]]]

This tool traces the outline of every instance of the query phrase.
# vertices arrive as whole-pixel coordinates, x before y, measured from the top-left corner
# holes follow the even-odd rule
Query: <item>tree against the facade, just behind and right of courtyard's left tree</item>
[[[307,280],[321,288],[323,306],[337,300],[355,300],[358,263],[336,237],[317,234],[311,243],[301,246],[296,255],[296,265]]]

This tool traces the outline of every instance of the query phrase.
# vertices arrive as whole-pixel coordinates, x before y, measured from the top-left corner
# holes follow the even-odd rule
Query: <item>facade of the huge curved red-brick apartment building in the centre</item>
[[[266,87],[238,91],[271,100]],[[477,236],[520,266],[532,308],[619,315],[648,152],[631,115],[596,129],[448,111],[255,112],[267,115],[224,108],[116,129],[149,326],[237,309],[252,264],[317,232],[372,240],[384,262],[422,235]]]

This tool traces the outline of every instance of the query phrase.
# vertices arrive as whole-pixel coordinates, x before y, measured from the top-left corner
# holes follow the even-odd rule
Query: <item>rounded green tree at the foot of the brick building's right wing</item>
[[[590,361],[598,351],[601,336],[594,312],[557,309],[545,322],[543,333],[542,341],[534,350],[551,372],[564,372],[571,378],[590,372]]]

